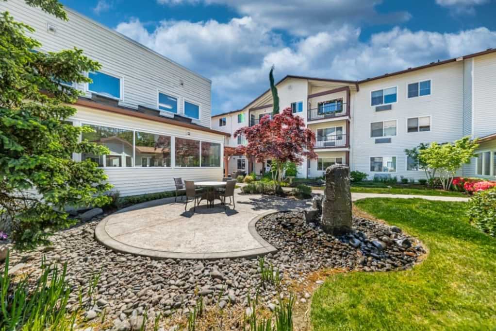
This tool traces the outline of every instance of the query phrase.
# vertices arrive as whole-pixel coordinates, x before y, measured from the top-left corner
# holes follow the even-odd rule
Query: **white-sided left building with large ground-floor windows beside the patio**
[[[68,21],[23,0],[0,2],[1,12],[35,29],[28,34],[42,47],[34,51],[77,47],[102,65],[99,72],[86,73],[93,83],[67,82],[84,92],[70,121],[92,126],[96,133],[82,139],[106,145],[111,155],[73,158],[98,163],[123,196],[174,190],[174,177],[220,180],[230,134],[211,129],[211,81],[64,9]]]

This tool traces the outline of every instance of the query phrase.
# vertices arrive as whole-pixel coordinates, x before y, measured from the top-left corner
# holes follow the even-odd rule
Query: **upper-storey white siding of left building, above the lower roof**
[[[210,127],[211,82],[103,25],[67,10],[68,22],[57,19],[23,0],[0,1],[0,11],[9,11],[16,20],[32,26],[32,36],[42,43],[41,51],[77,47],[102,65],[102,71],[123,77],[121,105],[157,107],[157,89],[179,97],[178,112],[184,113],[184,100],[201,105],[201,118],[195,123]],[[47,23],[56,34],[47,31]],[[183,83],[183,85],[181,85]],[[86,86],[78,86],[85,90]],[[90,93],[87,93],[90,96]]]

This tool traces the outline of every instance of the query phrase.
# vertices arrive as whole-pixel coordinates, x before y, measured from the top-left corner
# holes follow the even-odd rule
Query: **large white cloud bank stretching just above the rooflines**
[[[335,79],[365,79],[496,46],[496,31],[458,33],[398,27],[360,40],[360,29],[343,25],[284,43],[251,17],[227,23],[164,20],[148,32],[134,19],[117,30],[212,80],[213,112],[247,104],[268,88],[268,72]]]

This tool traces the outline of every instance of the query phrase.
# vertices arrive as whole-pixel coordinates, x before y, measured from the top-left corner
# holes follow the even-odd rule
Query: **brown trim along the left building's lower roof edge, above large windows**
[[[231,137],[231,134],[229,134],[227,132],[212,130],[209,128],[201,127],[199,125],[179,122],[179,121],[171,120],[168,118],[163,118],[163,117],[152,116],[152,115],[148,115],[148,114],[144,114],[144,113],[139,113],[137,111],[128,110],[128,109],[124,109],[124,108],[113,107],[113,106],[101,104],[101,103],[98,103],[95,101],[78,99],[75,102],[75,104],[79,105],[79,106],[84,106],[84,107],[89,107],[89,108],[94,108],[94,109],[99,109],[99,110],[105,110],[105,111],[115,113],[115,114],[132,116],[132,117],[146,119],[146,120],[150,120],[150,121],[154,121],[154,122],[161,122],[161,123],[181,126],[181,127],[192,129],[192,130],[198,130],[198,131],[203,131],[203,132],[214,133],[214,134],[218,134],[218,135],[224,135],[227,137]]]

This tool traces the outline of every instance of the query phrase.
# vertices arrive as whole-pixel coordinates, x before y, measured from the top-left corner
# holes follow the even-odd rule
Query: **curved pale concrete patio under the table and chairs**
[[[104,218],[95,230],[103,245],[124,253],[151,258],[218,259],[253,257],[276,251],[255,230],[263,216],[282,210],[298,210],[307,200],[274,196],[240,195],[236,209],[217,204],[196,207],[174,198],[137,204]]]

